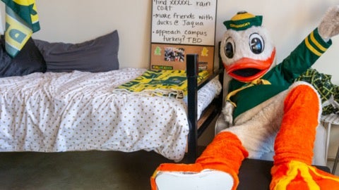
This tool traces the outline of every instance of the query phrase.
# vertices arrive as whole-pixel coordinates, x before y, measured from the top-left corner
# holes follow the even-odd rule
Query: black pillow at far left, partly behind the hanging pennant
[[[5,49],[5,38],[0,39],[0,77],[23,76],[32,72],[46,72],[46,63],[32,38],[11,58]]]

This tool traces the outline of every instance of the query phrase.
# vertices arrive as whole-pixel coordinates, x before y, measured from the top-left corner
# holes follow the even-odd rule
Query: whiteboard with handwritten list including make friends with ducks
[[[152,43],[214,46],[217,0],[152,1]]]

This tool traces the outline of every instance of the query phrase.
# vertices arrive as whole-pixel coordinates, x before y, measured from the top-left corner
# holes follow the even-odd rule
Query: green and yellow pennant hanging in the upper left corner
[[[33,32],[40,30],[35,0],[1,0],[6,4],[6,51],[15,57]]]

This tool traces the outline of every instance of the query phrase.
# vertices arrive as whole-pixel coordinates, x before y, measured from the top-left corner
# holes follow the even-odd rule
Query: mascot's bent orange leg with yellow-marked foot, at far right
[[[275,139],[270,189],[339,189],[339,178],[311,166],[320,100],[308,84],[292,85]]]

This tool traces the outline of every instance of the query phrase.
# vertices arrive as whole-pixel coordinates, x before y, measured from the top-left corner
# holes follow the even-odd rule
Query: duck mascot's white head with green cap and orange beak
[[[225,70],[235,80],[252,82],[260,79],[275,65],[275,47],[263,17],[245,11],[224,22],[227,31],[220,44]]]

